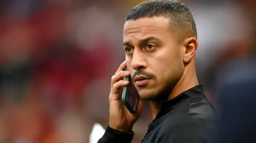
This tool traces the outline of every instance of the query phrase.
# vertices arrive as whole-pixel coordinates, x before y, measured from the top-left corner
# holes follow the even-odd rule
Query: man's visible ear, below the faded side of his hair
[[[195,56],[195,51],[197,49],[198,42],[195,37],[190,37],[184,41],[183,46],[185,48],[183,53],[183,62],[188,63]]]

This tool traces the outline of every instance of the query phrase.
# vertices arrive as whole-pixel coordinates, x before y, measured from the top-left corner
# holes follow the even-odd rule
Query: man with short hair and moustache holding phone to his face
[[[109,126],[101,142],[131,142],[132,128],[150,101],[153,122],[142,142],[210,142],[215,111],[195,72],[195,21],[176,0],[152,0],[135,6],[123,30],[125,62],[111,79]],[[125,67],[129,71],[124,71]],[[121,101],[132,76],[140,100],[135,114]]]

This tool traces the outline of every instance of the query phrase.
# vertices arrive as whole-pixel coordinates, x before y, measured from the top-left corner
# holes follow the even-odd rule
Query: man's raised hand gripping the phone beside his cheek
[[[139,99],[137,111],[131,114],[129,110],[124,106],[121,96],[123,86],[127,86],[129,81],[124,81],[124,77],[130,75],[129,71],[124,71],[126,63],[123,62],[115,75],[111,78],[111,89],[109,95],[109,126],[120,132],[128,133],[132,131],[134,123],[141,115],[143,108],[143,100]]]

